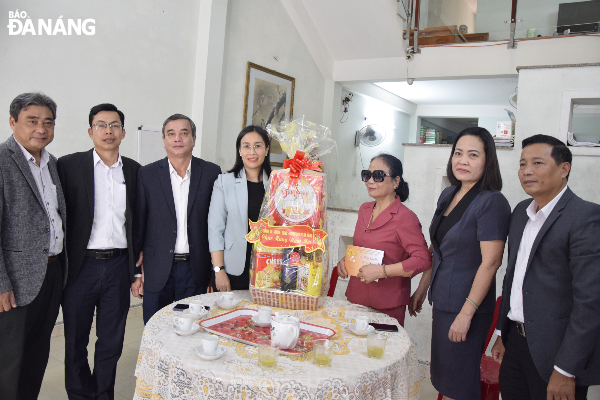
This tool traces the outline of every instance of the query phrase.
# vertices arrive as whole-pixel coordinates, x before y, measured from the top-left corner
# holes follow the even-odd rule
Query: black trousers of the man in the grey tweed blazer
[[[48,264],[40,292],[26,306],[0,312],[0,398],[37,399],[61,304],[62,267]]]

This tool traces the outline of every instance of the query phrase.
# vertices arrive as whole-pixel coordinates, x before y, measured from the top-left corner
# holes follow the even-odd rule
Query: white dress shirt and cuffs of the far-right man
[[[556,203],[559,202],[562,195],[565,193],[568,186],[563,187],[563,190],[560,193],[544,206],[541,210],[536,212],[538,209],[538,203],[533,200],[529,207],[527,207],[527,216],[529,216],[529,220],[525,224],[525,228],[523,229],[523,236],[521,237],[521,243],[519,244],[519,249],[517,252],[517,263],[515,264],[515,274],[512,278],[512,286],[511,286],[511,309],[508,312],[508,318],[512,321],[518,321],[520,323],[525,323],[525,318],[523,314],[523,280],[525,279],[525,273],[527,270],[527,262],[529,261],[529,255],[531,253],[531,248],[533,246],[533,242],[535,238],[538,236],[539,229],[542,228],[544,222],[554,207]],[[496,329],[496,335],[500,336],[500,331]],[[556,371],[559,371],[561,374],[566,375],[568,377],[573,378],[574,375],[569,374],[568,372],[563,371],[558,368],[556,365],[554,366]]]

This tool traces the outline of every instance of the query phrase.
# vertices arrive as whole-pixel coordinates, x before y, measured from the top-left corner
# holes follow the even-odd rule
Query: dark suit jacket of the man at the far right
[[[508,267],[497,328],[506,345],[512,279],[533,199],[511,216]],[[529,350],[545,381],[554,365],[578,386],[600,384],[600,205],[566,189],[533,242],[523,280],[523,315]]]

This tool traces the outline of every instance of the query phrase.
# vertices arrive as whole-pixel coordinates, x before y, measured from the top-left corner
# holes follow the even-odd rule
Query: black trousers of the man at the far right
[[[516,323],[511,323],[506,338],[499,381],[503,400],[546,400],[548,382],[539,375],[529,352],[527,338],[518,333]],[[587,386],[576,386],[575,400],[584,399],[587,399]]]

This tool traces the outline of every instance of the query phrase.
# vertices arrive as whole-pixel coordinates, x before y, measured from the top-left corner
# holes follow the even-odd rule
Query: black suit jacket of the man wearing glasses
[[[80,153],[68,154],[58,159],[56,168],[61,180],[62,190],[67,202],[67,254],[69,259],[69,274],[67,285],[77,278],[79,268],[88,248],[89,237],[92,234],[94,222],[94,149]],[[139,255],[134,255],[133,237],[133,206],[136,204],[136,178],[139,163],[121,156],[123,175],[125,177],[127,205],[125,208],[125,232],[127,234],[127,249],[129,250],[129,276],[133,283],[134,274],[141,273],[142,268],[136,267]]]

